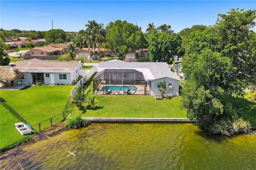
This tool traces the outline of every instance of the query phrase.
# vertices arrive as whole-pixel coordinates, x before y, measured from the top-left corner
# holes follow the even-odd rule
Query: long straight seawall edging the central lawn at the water
[[[188,118],[128,118],[128,117],[81,117],[93,123],[195,123]]]

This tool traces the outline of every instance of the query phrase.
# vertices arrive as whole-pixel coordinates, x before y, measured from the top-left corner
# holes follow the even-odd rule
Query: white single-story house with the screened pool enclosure
[[[162,62],[124,62],[110,60],[100,62],[93,79],[94,94],[137,94],[157,95],[160,83],[166,82],[165,95],[179,95],[177,74]]]

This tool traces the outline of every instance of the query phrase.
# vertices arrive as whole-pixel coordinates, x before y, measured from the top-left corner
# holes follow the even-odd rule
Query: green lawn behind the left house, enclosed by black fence
[[[1,90],[3,97],[31,125],[61,113],[73,86],[33,86],[23,90]]]

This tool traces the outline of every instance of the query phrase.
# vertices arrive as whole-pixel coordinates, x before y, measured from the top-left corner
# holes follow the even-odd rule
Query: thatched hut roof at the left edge
[[[11,66],[0,66],[0,81],[14,81],[24,76],[22,72]]]

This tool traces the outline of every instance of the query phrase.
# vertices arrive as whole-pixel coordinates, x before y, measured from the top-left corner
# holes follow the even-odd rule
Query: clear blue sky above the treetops
[[[3,1],[0,27],[5,30],[65,31],[85,29],[88,20],[105,26],[126,20],[145,32],[148,23],[170,24],[174,32],[195,24],[212,25],[230,8],[255,10],[256,1]],[[255,28],[254,28],[255,30]]]

